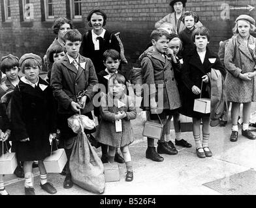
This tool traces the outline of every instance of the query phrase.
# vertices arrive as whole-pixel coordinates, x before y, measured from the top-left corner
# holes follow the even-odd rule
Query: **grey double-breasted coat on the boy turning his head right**
[[[174,70],[178,67],[173,67],[167,56],[163,57],[155,51],[148,53],[147,57],[142,59],[141,66],[143,83],[148,87],[148,90],[144,88],[142,109],[150,110],[150,96],[155,96],[158,109],[174,110],[181,107],[180,94],[174,77]]]

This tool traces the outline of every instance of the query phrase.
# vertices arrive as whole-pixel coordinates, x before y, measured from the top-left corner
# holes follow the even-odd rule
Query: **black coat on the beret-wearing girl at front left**
[[[22,81],[12,93],[11,138],[16,142],[18,161],[38,161],[50,155],[50,133],[56,133],[56,104],[52,88],[39,77],[33,88]],[[20,142],[29,138],[27,142]]]

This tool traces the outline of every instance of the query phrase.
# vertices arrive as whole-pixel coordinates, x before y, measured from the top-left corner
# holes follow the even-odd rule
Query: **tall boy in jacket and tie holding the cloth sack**
[[[63,183],[64,188],[71,188],[72,178],[69,170],[69,159],[72,146],[77,134],[67,124],[67,118],[78,113],[93,119],[93,86],[97,85],[98,79],[93,63],[90,59],[79,54],[82,35],[76,29],[69,30],[64,36],[66,55],[61,60],[54,62],[52,66],[51,85],[54,98],[57,99],[59,113],[59,130],[61,131],[60,142],[65,148],[68,162],[66,165],[67,175]],[[78,93],[84,92],[78,103]]]

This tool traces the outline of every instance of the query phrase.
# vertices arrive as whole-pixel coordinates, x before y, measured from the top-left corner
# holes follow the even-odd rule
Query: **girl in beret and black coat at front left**
[[[56,103],[52,88],[39,77],[42,60],[38,55],[26,53],[19,63],[25,76],[12,93],[10,118],[18,161],[24,161],[25,194],[35,195],[33,161],[39,161],[40,187],[55,194],[57,190],[47,182],[43,163],[50,155],[49,140],[56,136]]]

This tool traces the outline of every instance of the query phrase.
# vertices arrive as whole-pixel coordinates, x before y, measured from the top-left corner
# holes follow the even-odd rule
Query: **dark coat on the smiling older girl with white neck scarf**
[[[108,49],[115,49],[120,53],[120,45],[115,34],[106,30],[104,39],[99,39],[99,50],[95,51],[91,30],[86,32],[82,37],[82,44],[80,47],[80,54],[84,57],[91,59],[93,62],[96,73],[104,69],[103,53]]]

